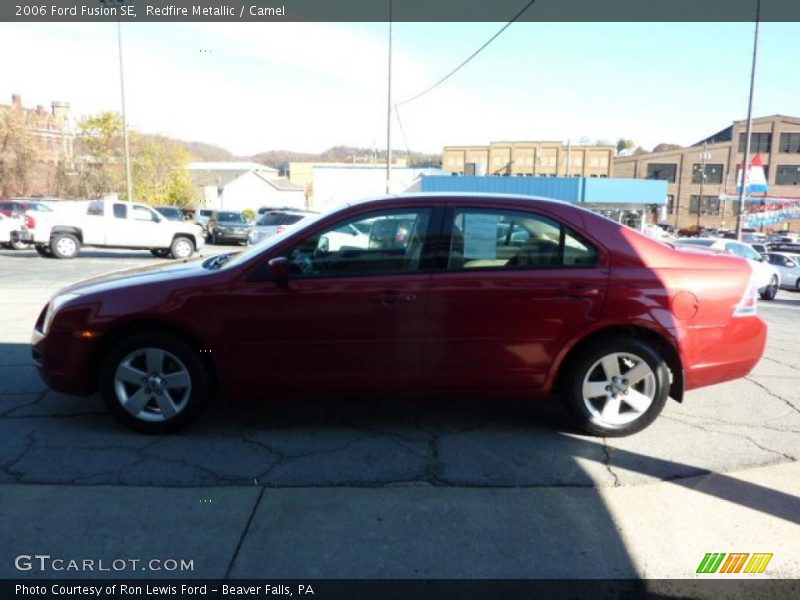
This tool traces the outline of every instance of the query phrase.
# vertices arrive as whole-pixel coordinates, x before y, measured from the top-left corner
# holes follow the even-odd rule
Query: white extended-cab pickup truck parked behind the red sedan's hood
[[[205,243],[197,225],[168,221],[145,204],[92,200],[59,202],[54,209],[25,213],[26,241],[42,256],[75,258],[81,246],[95,246],[188,258]]]

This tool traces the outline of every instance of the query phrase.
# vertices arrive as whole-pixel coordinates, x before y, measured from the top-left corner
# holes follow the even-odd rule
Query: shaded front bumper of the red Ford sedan
[[[31,336],[31,354],[39,376],[51,389],[63,394],[88,396],[96,385],[90,366],[93,342],[68,333]]]

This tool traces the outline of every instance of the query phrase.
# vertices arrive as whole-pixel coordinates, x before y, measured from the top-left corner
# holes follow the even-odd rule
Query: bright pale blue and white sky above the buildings
[[[411,98],[502,23],[395,23],[392,98]],[[624,137],[688,145],[744,119],[752,23],[514,23],[392,111],[392,147]],[[129,126],[238,155],[385,148],[386,23],[122,25]],[[0,103],[120,111],[114,23],[0,23]],[[754,116],[800,115],[800,23],[762,23]],[[402,131],[399,124],[402,123]],[[405,134],[405,135],[403,135]]]

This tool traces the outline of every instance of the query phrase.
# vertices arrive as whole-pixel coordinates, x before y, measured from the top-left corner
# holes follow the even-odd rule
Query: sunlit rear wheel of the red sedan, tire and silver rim
[[[578,426],[617,437],[641,431],[661,413],[669,368],[650,344],[634,338],[597,341],[574,356],[561,395]]]

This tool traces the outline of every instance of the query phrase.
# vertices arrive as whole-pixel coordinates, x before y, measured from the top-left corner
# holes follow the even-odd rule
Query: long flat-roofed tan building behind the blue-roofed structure
[[[442,169],[455,175],[520,177],[611,177],[614,146],[561,142],[491,142],[445,146]]]

